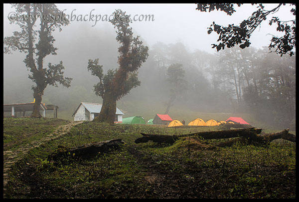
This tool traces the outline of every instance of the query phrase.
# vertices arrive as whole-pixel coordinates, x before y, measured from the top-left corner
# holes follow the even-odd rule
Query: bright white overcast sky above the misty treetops
[[[247,19],[257,7],[257,5],[251,4],[243,4],[241,7],[235,6],[236,12],[230,16],[223,11],[200,12],[195,9],[197,7],[195,3],[57,3],[56,5],[60,10],[63,10],[63,13],[67,14],[71,20],[70,25],[63,27],[63,29],[74,29],[76,25],[80,23],[85,23],[95,30],[107,26],[112,27],[106,20],[107,16],[110,16],[115,9],[122,9],[126,11],[127,14],[131,14],[132,18],[136,19],[131,24],[133,32],[140,35],[147,44],[153,45],[158,41],[166,44],[182,42],[190,51],[199,49],[209,53],[216,52],[215,49],[211,48],[211,44],[216,43],[218,39],[216,33],[212,32],[211,34],[207,34],[207,28],[213,21],[219,25],[239,24],[242,20]],[[270,9],[277,4],[266,3],[263,5],[265,5],[265,9]],[[10,4],[3,4],[3,10],[3,34],[5,37],[12,35],[12,31],[16,27],[14,24],[9,24],[8,15],[13,12]],[[282,20],[293,19],[294,16],[291,15],[290,10],[291,7],[289,5],[282,6],[279,12],[275,13],[274,16],[279,16]],[[101,18],[99,18],[100,15]],[[146,15],[149,15],[150,19],[148,18],[148,20],[146,20]],[[85,20],[83,17],[85,17]],[[98,18],[96,19],[96,17]],[[270,19],[271,16],[261,24],[261,27],[258,27],[253,32],[250,40],[252,43],[251,46],[256,48],[268,46],[272,38],[269,33],[274,35],[280,34],[276,32],[275,25],[268,25]],[[59,47],[59,44],[55,45]]]

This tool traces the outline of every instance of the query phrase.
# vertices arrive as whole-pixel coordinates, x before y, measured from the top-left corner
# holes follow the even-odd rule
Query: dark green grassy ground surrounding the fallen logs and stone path
[[[40,138],[42,133],[54,130],[54,123],[62,123],[55,120],[4,118],[3,130],[10,131],[3,134],[5,144],[17,145],[21,136],[28,139],[30,134]],[[21,131],[19,126],[28,128],[15,138],[14,134]],[[269,145],[235,144],[227,148],[216,146],[223,140],[198,138],[180,139],[173,145],[134,143],[142,137],[140,132],[174,135],[219,129],[83,122],[69,133],[30,150],[15,163],[4,198],[296,197],[295,143],[273,141]],[[9,141],[6,136],[10,136]],[[59,145],[73,148],[110,139],[122,139],[125,144],[87,159],[47,161]]]

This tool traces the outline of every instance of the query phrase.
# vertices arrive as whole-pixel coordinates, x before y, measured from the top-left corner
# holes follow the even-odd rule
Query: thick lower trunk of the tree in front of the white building
[[[116,100],[116,96],[114,96],[112,93],[105,93],[101,112],[99,116],[94,119],[94,121],[113,124],[116,113]]]

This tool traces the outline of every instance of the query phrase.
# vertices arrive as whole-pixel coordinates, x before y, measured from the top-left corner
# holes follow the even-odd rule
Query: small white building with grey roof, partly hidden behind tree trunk
[[[102,104],[81,102],[73,114],[74,121],[92,121],[101,112]],[[116,108],[114,123],[123,123],[124,113]]]

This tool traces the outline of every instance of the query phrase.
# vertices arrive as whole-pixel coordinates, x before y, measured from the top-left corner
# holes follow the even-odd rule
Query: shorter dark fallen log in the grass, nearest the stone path
[[[117,148],[119,144],[124,144],[121,139],[107,140],[102,142],[94,142],[89,144],[83,144],[75,148],[67,148],[64,146],[58,146],[58,148],[48,156],[48,161],[57,161],[64,157],[74,158],[86,158],[92,157],[99,152],[107,152],[109,149]]]

